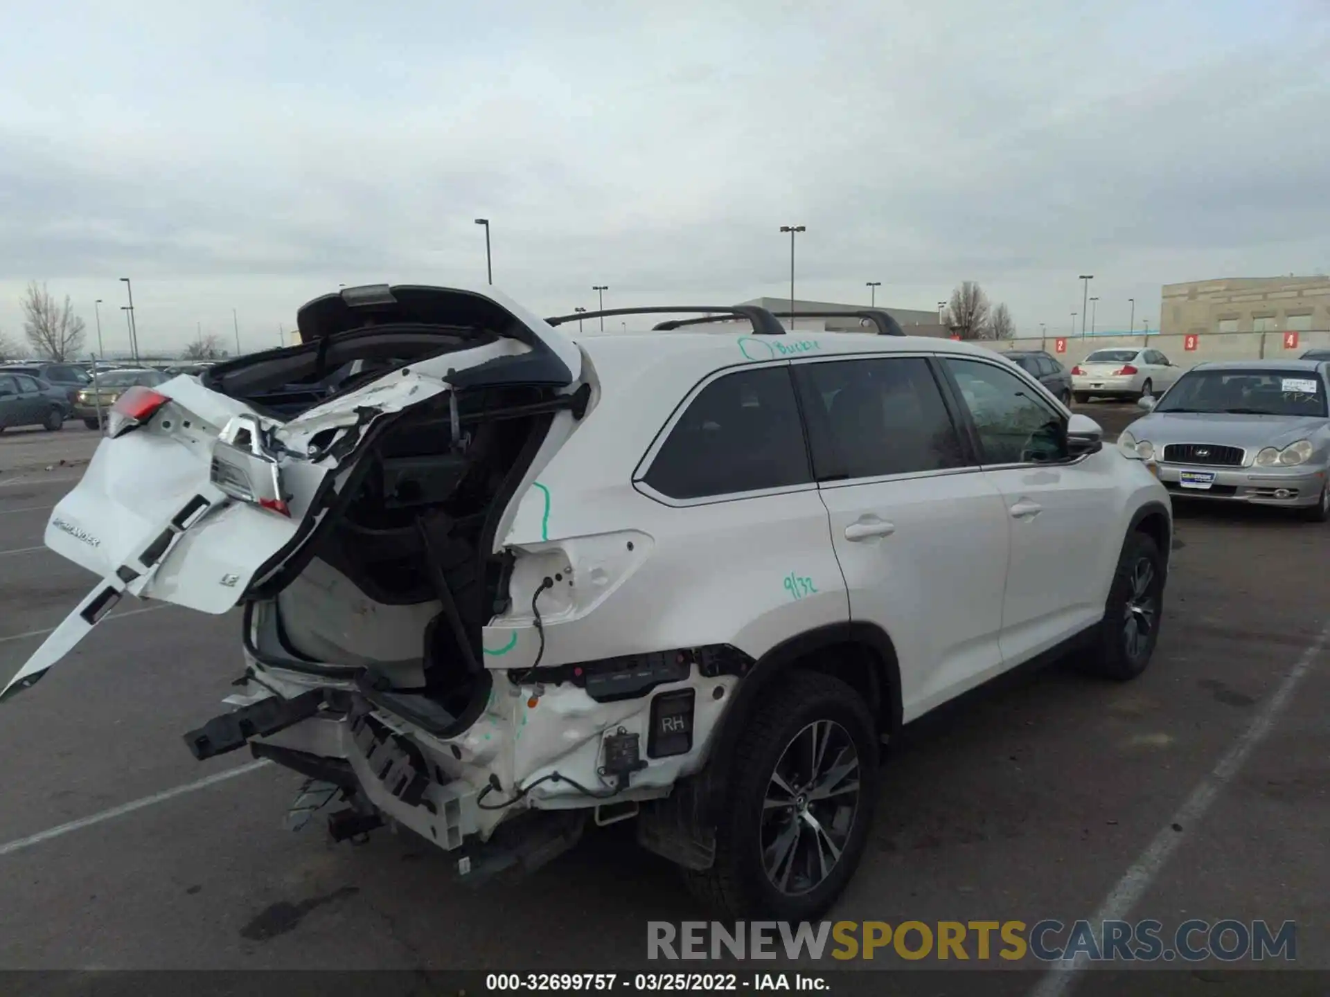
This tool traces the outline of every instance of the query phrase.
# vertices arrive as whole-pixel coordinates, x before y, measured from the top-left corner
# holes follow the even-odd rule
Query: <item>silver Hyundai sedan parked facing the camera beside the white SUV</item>
[[[1330,363],[1230,360],[1193,367],[1119,437],[1169,492],[1330,518]]]

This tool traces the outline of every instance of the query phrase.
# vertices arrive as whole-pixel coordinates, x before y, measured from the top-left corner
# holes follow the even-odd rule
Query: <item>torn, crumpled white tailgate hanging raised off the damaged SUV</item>
[[[117,400],[106,439],[45,532],[47,546],[101,581],[0,699],[33,685],[126,592],[210,614],[234,608],[302,549],[355,481],[366,443],[406,409],[466,384],[568,386],[580,374],[576,346],[493,292],[346,288],[302,308],[301,330],[303,346]],[[291,371],[322,376],[329,358],[368,358],[383,375],[352,370],[359,383],[281,415],[231,389],[281,386]],[[456,420],[455,395],[450,404]]]

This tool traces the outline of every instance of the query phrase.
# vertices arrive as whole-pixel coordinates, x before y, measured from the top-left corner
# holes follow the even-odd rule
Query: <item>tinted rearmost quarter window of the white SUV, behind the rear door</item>
[[[811,483],[790,368],[728,374],[702,388],[642,480],[670,498]]]

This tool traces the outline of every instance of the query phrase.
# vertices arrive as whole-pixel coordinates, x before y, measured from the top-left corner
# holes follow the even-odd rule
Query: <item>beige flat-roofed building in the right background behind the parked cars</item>
[[[1164,284],[1160,332],[1330,330],[1330,277],[1242,277]]]

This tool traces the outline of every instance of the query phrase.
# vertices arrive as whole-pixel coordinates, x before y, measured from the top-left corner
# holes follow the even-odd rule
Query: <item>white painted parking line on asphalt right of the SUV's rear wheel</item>
[[[1182,800],[1182,806],[1177,808],[1177,812],[1154,835],[1154,840],[1150,841],[1149,847],[1141,852],[1140,857],[1132,864],[1123,879],[1117,881],[1117,885],[1113,887],[1104,903],[1100,904],[1099,911],[1091,917],[1092,925],[1103,924],[1104,921],[1120,921],[1136,907],[1137,901],[1145,895],[1145,891],[1149,889],[1154,877],[1160,873],[1160,869],[1164,868],[1169,856],[1182,843],[1184,833],[1190,832],[1201,822],[1201,818],[1205,816],[1210,804],[1220,795],[1220,790],[1233,780],[1233,776],[1242,768],[1252,751],[1270,734],[1275,719],[1278,719],[1293,698],[1294,690],[1302,683],[1307,673],[1311,671],[1311,665],[1326,646],[1326,641],[1330,641],[1330,622],[1326,622],[1321,627],[1321,633],[1302,651],[1302,657],[1298,658],[1297,663],[1274,690],[1274,694],[1265,701],[1252,718],[1248,728],[1224,752],[1224,756],[1214,768],[1196,784],[1196,788]],[[1182,832],[1174,831],[1174,827],[1181,827]],[[1048,974],[1029,992],[1029,997],[1061,997],[1071,990],[1076,982],[1076,974],[1087,969],[1088,964],[1089,960],[1084,952],[1077,953],[1075,958],[1053,962],[1048,968]]]

